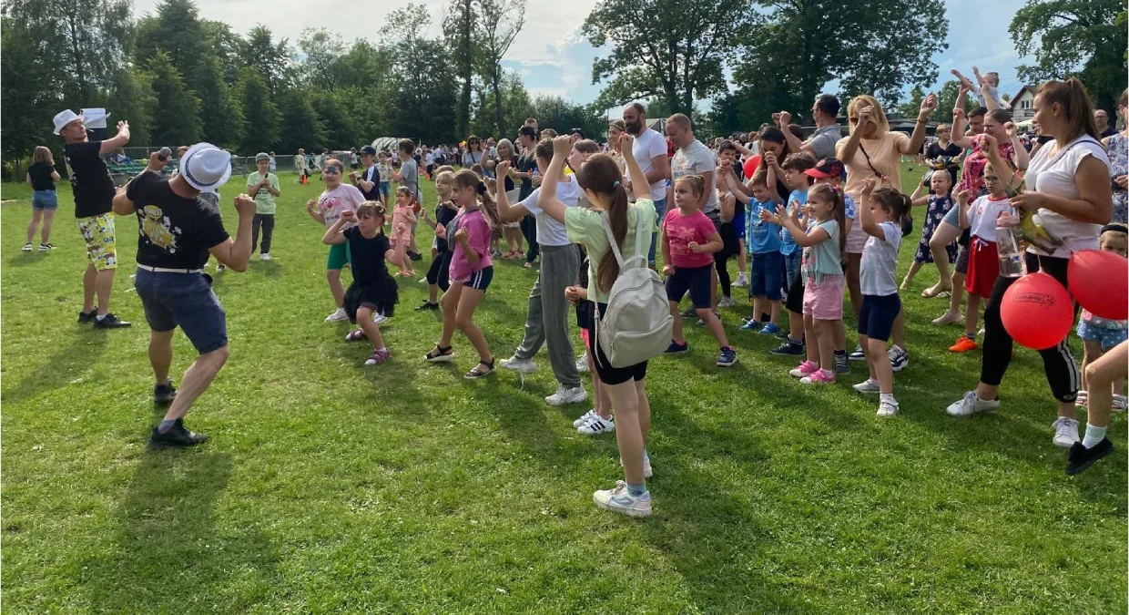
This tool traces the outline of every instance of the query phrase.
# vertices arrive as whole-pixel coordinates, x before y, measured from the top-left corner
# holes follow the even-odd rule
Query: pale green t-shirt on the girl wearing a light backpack
[[[596,209],[585,209],[583,207],[569,207],[564,211],[564,228],[568,231],[568,240],[572,243],[584,245],[588,251],[588,298],[597,303],[607,303],[607,293],[599,292],[596,287],[596,279],[599,261],[611,250],[607,243],[607,234],[604,225],[599,222],[601,211]],[[628,206],[628,234],[623,237],[623,246],[620,255],[628,260],[636,253],[636,225],[642,216],[644,234],[641,267],[647,267],[647,250],[650,248],[650,237],[655,234],[655,202],[650,199],[642,199]]]

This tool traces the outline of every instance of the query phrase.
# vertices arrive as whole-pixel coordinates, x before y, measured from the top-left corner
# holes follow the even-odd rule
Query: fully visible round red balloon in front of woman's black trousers
[[[1057,279],[1038,271],[1023,276],[1004,293],[999,315],[1012,339],[1042,350],[1070,335],[1074,302]]]

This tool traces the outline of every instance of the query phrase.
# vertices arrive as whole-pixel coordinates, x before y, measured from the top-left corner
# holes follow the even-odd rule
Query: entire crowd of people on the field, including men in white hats
[[[1082,83],[1049,81],[1035,95],[1040,136],[1029,151],[994,94],[998,79],[978,73],[978,80],[979,86],[962,83],[953,122],[937,127],[936,141],[926,149],[927,173],[911,193],[902,185],[901,162],[925,147],[937,105],[934,95],[921,103],[911,133],[892,130],[872,96],[856,96],[842,107],[835,96],[824,94],[813,102],[815,130],[806,136],[790,113],[780,112],[750,136],[707,145],[688,116],[667,118],[662,135],[649,128],[642,105],[631,104],[622,120],[609,125],[604,146],[580,131],[558,136],[540,130],[531,119],[513,140],[472,136],[457,148],[426,148],[402,139],[394,153],[367,146],[344,161],[326,156],[316,167],[324,191],[306,203],[308,214],[325,225],[322,241],[334,303],[325,320],[357,323],[345,340],[371,345],[366,365],[390,361],[380,323],[396,314],[395,277],[414,278],[413,262],[427,258],[415,243],[418,225],[427,225],[430,262],[420,281],[429,293],[415,310],[440,311],[441,328],[422,358],[454,361],[455,334],[462,334],[476,355],[465,378],[482,379],[499,369],[532,373],[545,347],[558,381],[557,391],[545,398],[553,406],[586,401],[581,374],[590,373],[592,407],[574,426],[587,435],[614,433],[624,471],[624,480],[595,492],[594,501],[634,517],[651,513],[647,360],[664,348],[669,355],[691,352],[682,319],[697,318],[717,344],[716,364],[736,364],[721,312],[745,303],[745,297],[734,298],[734,288],[747,287],[751,305],[739,331],[778,337],[771,353],[796,358],[790,374],[798,382],[833,386],[850,374],[851,361],[864,361],[867,378],[852,388],[876,395],[877,415],[892,417],[902,412],[895,373],[909,365],[900,293],[909,292],[921,268],[933,263],[939,280],[921,294],[949,300],[934,322],[963,323],[952,352],[982,348],[977,387],[947,413],[996,409],[1014,345],[1000,304],[1019,279],[1013,261],[1001,270],[1008,246],[1000,243],[1006,240],[1000,225],[1027,220],[1026,251],[1017,267],[1045,271],[1067,287],[1073,254],[1103,250],[1126,257],[1129,128],[1103,136]],[[965,112],[966,96],[977,87],[986,106]],[[1129,90],[1119,109],[1129,127]],[[848,121],[846,136],[838,122],[841,112]],[[256,156],[246,193],[235,199],[238,222],[231,237],[215,197],[231,173],[227,151],[209,144],[186,148],[176,156],[177,173],[168,177],[161,171],[170,157],[155,153],[146,172],[115,189],[103,156],[129,141],[129,124],[117,128],[114,138],[90,141],[81,116],[64,111],[55,118],[89,260],[79,322],[130,324],[110,312],[117,267],[112,214],[135,215],[134,286],[151,330],[155,400],[168,406],[151,439],[163,445],[198,444],[207,436],[185,427],[184,416],[228,356],[225,314],[204,267],[211,255],[242,271],[256,250],[270,259],[281,193],[273,156]],[[60,176],[50,151],[42,149],[28,173],[34,217],[25,250],[32,249],[41,223],[40,250],[51,248]],[[313,165],[304,156],[297,159],[305,181]],[[428,180],[436,184],[435,203],[425,203],[420,189]],[[921,216],[914,215],[919,207]],[[920,229],[914,218],[922,220]],[[913,265],[899,284],[902,242],[914,234],[920,240]],[[736,279],[729,272],[734,258]],[[523,339],[500,360],[475,322],[496,259],[539,268]],[[347,266],[352,275],[348,288],[341,276]],[[857,323],[854,344],[846,310]],[[177,327],[199,355],[180,388],[168,373]],[[579,358],[574,327],[583,340]],[[1058,404],[1052,442],[1069,449],[1070,474],[1112,451],[1105,432],[1110,413],[1126,407],[1122,386],[1129,372],[1126,321],[1083,311],[1077,335],[1085,346],[1082,370],[1068,336],[1040,349]],[[1088,413],[1080,434],[1079,410]]]

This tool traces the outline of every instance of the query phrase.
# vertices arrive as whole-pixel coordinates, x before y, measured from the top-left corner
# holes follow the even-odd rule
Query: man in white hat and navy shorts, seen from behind
[[[161,175],[168,164],[158,154],[146,172],[114,197],[114,213],[138,217],[138,274],[134,287],[149,322],[149,363],[156,386],[154,401],[169,405],[165,418],[152,431],[151,443],[191,447],[208,440],[184,426],[184,415],[211,384],[227,362],[227,319],[203,274],[208,255],[244,271],[251,259],[251,225],[255,201],[247,194],[235,199],[239,229],[235,240],[224,229],[219,209],[200,198],[215,193],[231,174],[231,155],[211,144],[196,144],[181,158],[180,174]],[[181,390],[168,378],[173,362],[173,334],[180,327],[200,356],[184,372]]]

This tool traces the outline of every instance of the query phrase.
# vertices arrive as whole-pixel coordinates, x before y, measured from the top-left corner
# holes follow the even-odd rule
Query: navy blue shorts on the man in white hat
[[[139,268],[133,287],[154,331],[180,327],[200,354],[227,346],[227,315],[203,274],[158,274]]]

